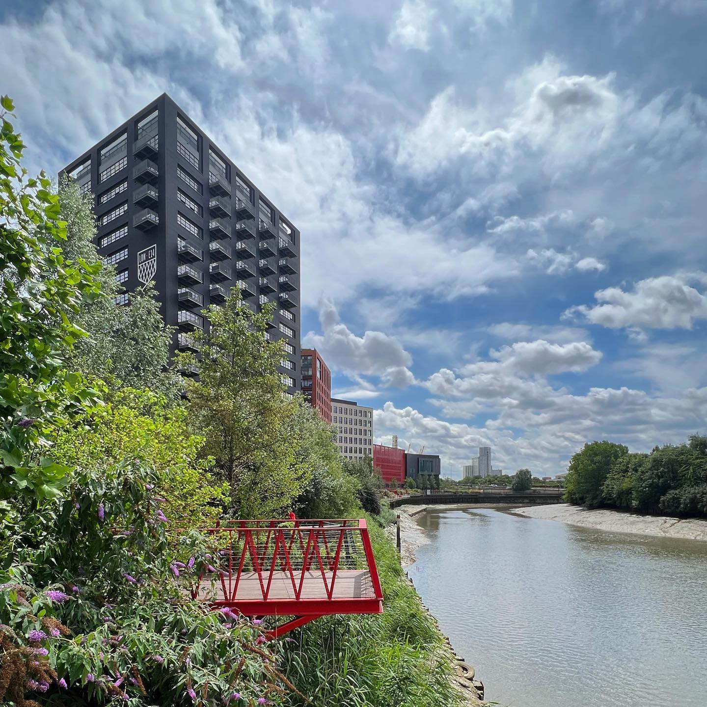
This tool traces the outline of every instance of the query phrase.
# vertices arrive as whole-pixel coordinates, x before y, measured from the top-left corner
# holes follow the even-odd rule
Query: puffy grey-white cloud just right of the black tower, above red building
[[[320,305],[323,334],[309,332],[303,345],[317,349],[332,370],[346,374],[378,375],[385,385],[404,387],[414,382],[408,370],[412,356],[402,345],[383,332],[368,331],[363,337],[351,332],[339,319],[331,300]]]

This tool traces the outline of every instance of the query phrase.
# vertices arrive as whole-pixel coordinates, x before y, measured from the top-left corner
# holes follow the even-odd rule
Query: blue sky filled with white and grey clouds
[[[4,0],[52,173],[166,91],[302,232],[377,441],[562,472],[707,431],[707,1]]]

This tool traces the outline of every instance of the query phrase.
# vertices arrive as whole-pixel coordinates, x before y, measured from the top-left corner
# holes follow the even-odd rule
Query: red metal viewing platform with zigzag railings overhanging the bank
[[[202,532],[218,551],[192,597],[245,616],[291,617],[272,637],[327,614],[382,613],[366,520],[233,520]]]

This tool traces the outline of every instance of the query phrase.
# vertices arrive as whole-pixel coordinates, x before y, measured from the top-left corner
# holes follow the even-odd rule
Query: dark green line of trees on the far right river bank
[[[668,515],[707,516],[707,437],[654,447],[592,442],[568,467],[565,498],[589,508],[613,506]]]

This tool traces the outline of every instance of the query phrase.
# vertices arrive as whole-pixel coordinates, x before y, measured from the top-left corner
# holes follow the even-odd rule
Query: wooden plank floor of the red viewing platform
[[[238,582],[238,590],[233,595],[235,588],[235,574],[213,575],[212,578],[205,577],[201,580],[197,599],[207,602],[262,602],[265,599],[264,592],[267,590],[267,583],[270,573],[262,573],[263,585],[261,586],[258,575],[255,572],[243,572]],[[305,572],[302,583],[300,600],[327,600],[327,587],[331,588],[332,573],[326,572],[327,585],[322,580],[322,573]],[[299,589],[301,571],[294,573],[295,586]],[[334,580],[334,592],[332,599],[370,599],[375,597],[373,583],[368,570],[338,570]],[[296,600],[295,588],[292,586],[291,575],[288,572],[276,571],[272,573],[272,581],[267,590],[268,601]]]

